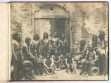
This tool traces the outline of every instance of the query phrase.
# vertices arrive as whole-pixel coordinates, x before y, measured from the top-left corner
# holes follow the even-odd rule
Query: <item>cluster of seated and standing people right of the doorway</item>
[[[79,52],[75,56],[80,75],[107,75],[107,53],[104,32],[100,32],[99,38],[93,35],[91,45],[86,45],[86,42],[81,40]]]

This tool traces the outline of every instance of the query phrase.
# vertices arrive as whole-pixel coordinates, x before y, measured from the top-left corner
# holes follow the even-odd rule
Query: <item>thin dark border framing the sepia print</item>
[[[9,3],[89,3],[89,2],[91,2],[91,3],[102,3],[102,2],[107,2],[108,3],[108,80],[8,80],[8,82],[38,82],[38,81],[40,81],[40,82],[42,82],[42,81],[109,81],[109,77],[110,77],[110,44],[109,44],[109,41],[110,41],[110,37],[109,37],[109,33],[110,33],[110,31],[109,31],[109,2],[108,1],[10,1]],[[11,28],[9,28],[9,29],[11,29]],[[11,32],[11,30],[9,30],[9,33]],[[10,33],[11,34],[11,33]],[[10,35],[9,34],[9,35]],[[10,38],[10,41],[11,41],[11,38]],[[9,49],[9,52],[10,52],[10,49]],[[10,54],[9,54],[9,56],[10,56]],[[10,72],[10,71],[9,71]]]

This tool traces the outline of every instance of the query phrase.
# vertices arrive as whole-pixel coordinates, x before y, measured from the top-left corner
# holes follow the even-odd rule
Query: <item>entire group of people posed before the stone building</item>
[[[67,73],[80,75],[107,75],[107,53],[105,33],[99,37],[92,36],[92,44],[80,41],[78,52],[70,51],[65,35],[61,38],[55,32],[51,38],[44,33],[41,40],[38,34],[33,39],[27,37],[22,44],[20,34],[13,34],[11,79],[35,79],[35,75],[53,75],[55,71],[66,70]]]

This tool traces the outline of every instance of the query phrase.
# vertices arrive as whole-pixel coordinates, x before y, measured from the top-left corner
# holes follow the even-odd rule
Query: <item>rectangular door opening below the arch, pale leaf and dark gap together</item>
[[[41,39],[44,32],[51,36],[57,32],[60,39],[64,34],[70,44],[70,19],[68,18],[37,18],[34,27],[34,34],[39,34]]]

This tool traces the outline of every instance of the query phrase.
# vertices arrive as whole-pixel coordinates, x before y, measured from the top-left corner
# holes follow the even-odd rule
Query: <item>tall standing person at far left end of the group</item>
[[[22,60],[23,56],[21,53],[21,37],[18,32],[13,34],[12,37],[12,60],[11,66],[14,67],[12,73],[12,80],[20,80],[22,78]]]

